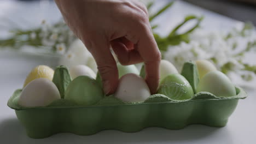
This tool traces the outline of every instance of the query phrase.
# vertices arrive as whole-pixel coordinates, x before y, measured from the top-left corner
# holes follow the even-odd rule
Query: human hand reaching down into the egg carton
[[[161,53],[154,40],[148,11],[136,0],[55,0],[67,25],[94,56],[104,87],[118,86],[117,64],[110,45],[123,65],[144,62],[152,94],[159,84]]]

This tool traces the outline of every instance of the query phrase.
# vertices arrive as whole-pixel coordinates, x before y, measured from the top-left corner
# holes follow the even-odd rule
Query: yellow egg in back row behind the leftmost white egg
[[[53,80],[54,70],[46,65],[38,65],[36,68],[33,68],[28,74],[27,79],[24,82],[23,87],[26,87],[28,83],[34,79],[45,78],[50,81]]]

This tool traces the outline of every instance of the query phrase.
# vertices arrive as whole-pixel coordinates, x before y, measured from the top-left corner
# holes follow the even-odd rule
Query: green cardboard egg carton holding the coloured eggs
[[[193,63],[187,65],[185,69],[190,69]],[[193,73],[184,77],[188,75],[191,77]],[[189,82],[195,81],[195,76],[192,77]],[[61,87],[66,89],[66,84]],[[15,110],[27,135],[35,139],[56,133],[92,135],[108,129],[136,132],[147,127],[183,129],[189,124],[224,127],[238,100],[247,97],[242,88],[236,87],[236,95],[232,97],[200,92],[190,99],[172,100],[154,94],[143,103],[124,103],[109,96],[90,106],[79,106],[62,98],[46,107],[21,107],[18,105],[21,92],[22,89],[14,92],[8,106]]]

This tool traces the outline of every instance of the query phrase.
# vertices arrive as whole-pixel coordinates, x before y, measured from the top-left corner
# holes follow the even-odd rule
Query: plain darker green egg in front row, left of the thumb
[[[72,100],[78,105],[94,105],[103,98],[100,84],[89,76],[78,76],[69,83],[65,99]]]

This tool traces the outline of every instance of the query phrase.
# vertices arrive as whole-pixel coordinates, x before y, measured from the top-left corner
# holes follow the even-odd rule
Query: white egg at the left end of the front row
[[[34,79],[22,89],[18,104],[23,107],[47,106],[61,99],[55,84],[45,78]]]

